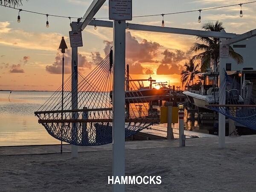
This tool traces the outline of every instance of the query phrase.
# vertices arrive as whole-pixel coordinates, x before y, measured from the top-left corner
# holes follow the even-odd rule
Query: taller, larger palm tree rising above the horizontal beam
[[[202,26],[202,29],[206,31],[216,31],[220,32],[223,27],[223,23],[219,22],[218,20],[213,23],[213,22],[208,22],[205,23]],[[218,61],[219,61],[219,38],[209,38],[209,37],[201,37],[198,36],[197,39],[202,41],[202,44],[195,43],[193,47],[191,47],[192,51],[195,52],[201,52],[198,55],[195,55],[192,59],[193,60],[198,60],[200,59],[202,61],[201,64],[201,71],[205,71],[209,65],[211,58],[214,61],[214,68],[218,66]],[[243,63],[243,57],[234,51],[234,49],[229,46],[229,55],[231,58],[233,58],[238,64]]]

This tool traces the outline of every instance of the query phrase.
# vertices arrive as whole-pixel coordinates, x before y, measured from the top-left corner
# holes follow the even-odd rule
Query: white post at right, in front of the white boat
[[[224,31],[223,31],[224,32]],[[222,44],[222,40],[220,39],[220,44]],[[221,46],[220,46],[221,47]],[[225,65],[226,65],[226,59],[221,58],[220,54],[220,61],[219,61],[219,105],[225,105],[226,104],[226,83],[225,81]],[[218,122],[218,147],[224,148],[225,147],[225,129],[226,129],[226,120],[225,116],[221,113],[219,113],[219,122]]]

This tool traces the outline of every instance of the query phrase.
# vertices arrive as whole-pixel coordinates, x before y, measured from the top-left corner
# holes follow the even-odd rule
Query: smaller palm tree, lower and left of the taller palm
[[[194,84],[195,75],[200,73],[200,70],[198,70],[199,64],[195,65],[195,61],[193,59],[190,59],[189,63],[185,63],[184,67],[186,67],[186,69],[181,71],[180,78],[182,85],[186,84],[189,86],[191,81],[192,84]]]

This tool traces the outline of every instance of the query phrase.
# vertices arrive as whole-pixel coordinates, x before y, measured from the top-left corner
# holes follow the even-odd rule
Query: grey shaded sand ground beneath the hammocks
[[[160,175],[161,185],[126,191],[256,191],[256,143],[126,150],[126,175]],[[0,156],[0,191],[111,191],[111,151]]]

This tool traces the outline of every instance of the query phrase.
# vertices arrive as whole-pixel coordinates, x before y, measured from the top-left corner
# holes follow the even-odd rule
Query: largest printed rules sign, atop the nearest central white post
[[[109,0],[110,20],[132,20],[132,0]]]

